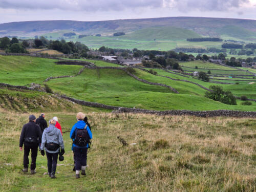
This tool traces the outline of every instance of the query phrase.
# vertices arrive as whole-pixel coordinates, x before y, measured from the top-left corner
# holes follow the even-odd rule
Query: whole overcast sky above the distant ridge
[[[0,0],[0,23],[169,16],[256,19],[256,0]]]

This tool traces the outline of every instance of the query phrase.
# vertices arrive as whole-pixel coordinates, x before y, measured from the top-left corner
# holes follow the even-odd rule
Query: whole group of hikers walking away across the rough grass
[[[76,115],[77,122],[73,125],[70,138],[72,139],[72,151],[74,153],[74,168],[76,178],[86,175],[87,151],[91,144],[92,132],[88,118],[81,112]],[[19,150],[23,151],[24,144],[24,169],[22,172],[27,173],[29,167],[29,153],[31,151],[31,174],[35,174],[37,148],[42,156],[47,156],[48,175],[56,178],[56,166],[58,157],[63,160],[65,147],[63,143],[61,126],[57,117],[49,121],[49,126],[45,120],[45,113],[41,113],[36,119],[34,115],[29,115],[29,122],[24,124],[22,133],[19,138]]]

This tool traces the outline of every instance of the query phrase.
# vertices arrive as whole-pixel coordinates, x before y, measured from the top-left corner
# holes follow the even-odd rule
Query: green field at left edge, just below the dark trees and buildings
[[[28,86],[42,84],[50,76],[75,75],[82,66],[56,65],[54,59],[29,56],[1,56],[0,82]]]

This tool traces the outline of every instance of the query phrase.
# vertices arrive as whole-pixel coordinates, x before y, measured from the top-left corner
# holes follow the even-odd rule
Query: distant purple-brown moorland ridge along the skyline
[[[42,20],[0,24],[0,36],[34,36],[56,31],[74,31],[80,34],[111,34],[133,32],[145,28],[176,27],[194,31],[199,35],[218,36],[226,33],[227,27],[237,29],[236,37],[244,30],[247,34],[256,33],[256,20],[238,18],[209,17],[161,17],[140,19],[118,19],[96,22],[75,20]],[[230,27],[231,26],[231,27]]]

